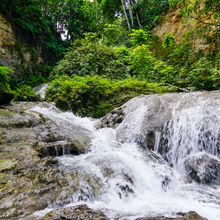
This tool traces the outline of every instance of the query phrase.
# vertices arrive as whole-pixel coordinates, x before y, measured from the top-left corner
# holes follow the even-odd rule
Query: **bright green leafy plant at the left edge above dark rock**
[[[10,91],[10,85],[9,85],[10,79],[8,74],[12,72],[13,71],[8,67],[0,66],[0,93]]]

